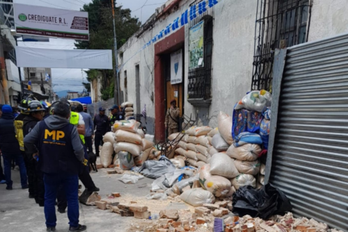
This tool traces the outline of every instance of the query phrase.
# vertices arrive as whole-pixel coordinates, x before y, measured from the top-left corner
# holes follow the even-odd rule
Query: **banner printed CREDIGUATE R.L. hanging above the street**
[[[19,34],[89,40],[88,13],[14,3]]]

